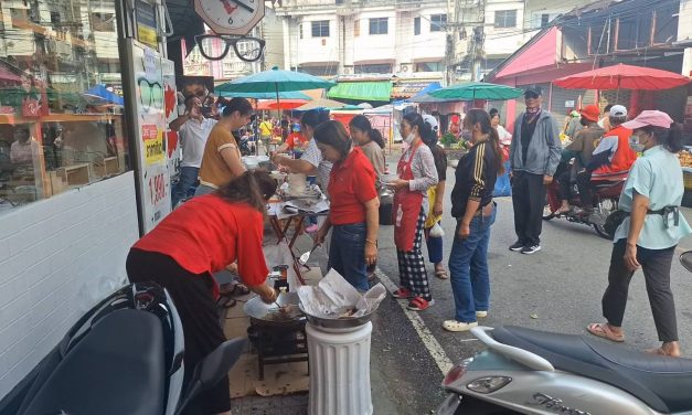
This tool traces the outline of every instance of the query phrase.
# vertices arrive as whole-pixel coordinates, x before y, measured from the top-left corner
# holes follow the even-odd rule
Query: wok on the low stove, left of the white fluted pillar
[[[298,302],[297,292],[281,292],[276,304],[266,304],[262,298],[253,297],[245,302],[243,310],[258,324],[286,327],[305,321],[305,315],[298,307]],[[279,306],[286,307],[285,311],[280,311]]]

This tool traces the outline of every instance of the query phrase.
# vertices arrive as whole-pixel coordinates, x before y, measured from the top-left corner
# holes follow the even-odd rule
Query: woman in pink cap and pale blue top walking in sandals
[[[682,126],[666,113],[645,110],[622,127],[634,130],[630,147],[643,156],[632,164],[618,204],[629,215],[613,240],[608,288],[603,296],[607,321],[592,323],[587,330],[615,342],[625,341],[622,318],[629,281],[641,268],[656,330],[663,343],[648,352],[680,357],[670,266],[678,242],[692,233],[678,211],[684,192],[677,157],[682,150]]]

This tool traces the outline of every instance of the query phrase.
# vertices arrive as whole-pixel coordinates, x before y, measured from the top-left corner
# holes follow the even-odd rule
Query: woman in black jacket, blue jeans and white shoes
[[[490,275],[488,243],[494,223],[496,203],[492,190],[502,173],[502,150],[498,131],[482,109],[471,109],[464,118],[473,147],[459,160],[451,191],[451,215],[457,230],[449,254],[455,319],[443,322],[447,331],[467,331],[488,316]]]

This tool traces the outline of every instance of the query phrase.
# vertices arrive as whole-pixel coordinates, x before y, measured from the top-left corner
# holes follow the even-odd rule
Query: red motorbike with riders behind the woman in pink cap
[[[560,183],[553,181],[546,189],[547,195],[545,208],[543,210],[543,220],[550,221],[555,217],[564,217],[569,222],[593,226],[598,235],[613,241],[613,235],[606,232],[604,224],[606,223],[608,215],[618,209],[618,201],[620,200],[620,193],[622,192],[625,181],[627,181],[626,177],[611,181],[592,182],[596,184],[596,189],[594,190],[594,211],[587,216],[577,214],[574,210],[571,210],[567,213],[557,214],[557,211],[562,205],[562,200],[560,196]],[[573,184],[572,195],[569,205],[573,208],[584,208],[582,206],[576,184]]]

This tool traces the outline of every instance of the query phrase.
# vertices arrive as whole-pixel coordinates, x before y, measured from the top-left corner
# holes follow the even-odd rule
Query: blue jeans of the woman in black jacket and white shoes
[[[494,223],[497,206],[489,216],[476,216],[470,234],[455,237],[449,253],[449,274],[454,292],[455,319],[460,322],[476,321],[476,311],[488,311],[490,302],[490,275],[488,272],[488,243],[490,226]]]

